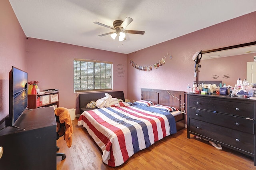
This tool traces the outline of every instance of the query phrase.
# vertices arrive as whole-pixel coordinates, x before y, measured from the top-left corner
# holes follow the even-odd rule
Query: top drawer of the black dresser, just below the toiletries
[[[205,109],[210,111],[216,111],[219,113],[227,113],[230,115],[237,115],[246,118],[254,119],[254,102],[241,100],[236,102],[235,100],[219,99],[214,97],[189,97],[189,107],[195,107],[198,109]]]

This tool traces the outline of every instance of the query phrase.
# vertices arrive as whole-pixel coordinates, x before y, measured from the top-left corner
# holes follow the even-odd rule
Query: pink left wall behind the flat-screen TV
[[[26,36],[8,0],[0,1],[0,122],[9,115],[9,71],[27,71]]]

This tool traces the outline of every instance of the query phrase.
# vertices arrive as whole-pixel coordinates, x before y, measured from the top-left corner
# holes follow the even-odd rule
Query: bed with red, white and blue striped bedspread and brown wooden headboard
[[[164,108],[159,109],[160,105]],[[173,111],[161,110],[166,106]],[[78,125],[85,127],[100,147],[102,161],[116,167],[134,153],[184,128],[184,111],[184,91],[142,88],[141,100],[84,111]]]

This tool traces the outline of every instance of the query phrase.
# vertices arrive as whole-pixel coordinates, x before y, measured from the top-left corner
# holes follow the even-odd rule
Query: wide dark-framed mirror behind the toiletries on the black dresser
[[[247,79],[247,62],[253,63],[256,59],[256,41],[201,52],[197,84],[207,81],[209,84],[218,82],[217,86],[219,82],[234,86],[239,78]]]

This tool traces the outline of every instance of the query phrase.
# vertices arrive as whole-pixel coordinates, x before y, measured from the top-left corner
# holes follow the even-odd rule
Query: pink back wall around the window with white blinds
[[[26,50],[28,81],[39,81],[41,90],[60,89],[60,107],[77,107],[78,93],[73,92],[74,58],[113,62],[113,90],[124,91],[124,96],[127,96],[126,54],[34,38],[28,38]],[[123,77],[118,76],[118,65],[123,67]],[[76,111],[79,114],[79,109]]]

